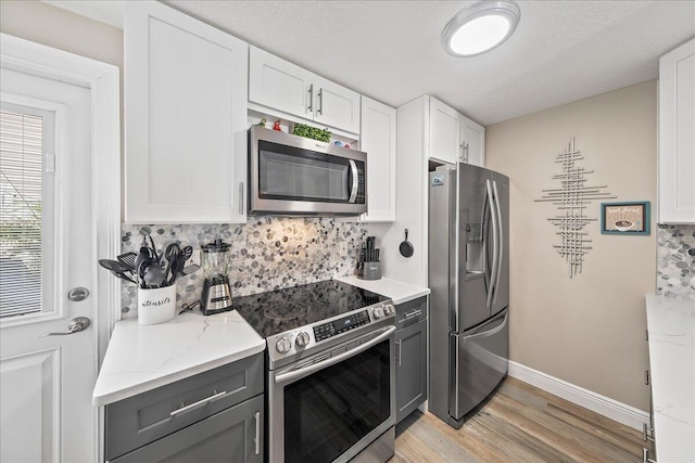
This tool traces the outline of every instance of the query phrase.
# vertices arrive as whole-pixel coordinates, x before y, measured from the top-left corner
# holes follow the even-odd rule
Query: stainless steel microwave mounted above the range
[[[367,211],[367,154],[263,127],[249,129],[249,214]]]

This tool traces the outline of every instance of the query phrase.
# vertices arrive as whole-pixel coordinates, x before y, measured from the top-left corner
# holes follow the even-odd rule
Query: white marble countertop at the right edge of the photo
[[[695,462],[695,301],[646,295],[656,460]]]

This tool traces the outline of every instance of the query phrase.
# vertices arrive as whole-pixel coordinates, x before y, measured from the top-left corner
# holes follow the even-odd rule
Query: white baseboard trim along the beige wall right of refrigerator
[[[535,386],[546,393],[598,413],[618,423],[642,430],[642,425],[649,422],[649,414],[627,406],[617,400],[593,393],[583,387],[533,370],[532,368],[509,360],[509,376]]]

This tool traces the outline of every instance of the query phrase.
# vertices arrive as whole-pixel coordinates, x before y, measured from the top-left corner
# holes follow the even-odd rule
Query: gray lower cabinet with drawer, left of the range
[[[109,462],[263,462],[264,357],[238,360],[105,408]]]

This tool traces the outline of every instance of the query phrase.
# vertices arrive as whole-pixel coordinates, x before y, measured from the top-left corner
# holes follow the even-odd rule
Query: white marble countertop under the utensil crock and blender
[[[265,339],[236,311],[188,312],[154,325],[122,320],[109,342],[92,404],[113,403],[264,349]]]

